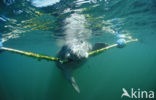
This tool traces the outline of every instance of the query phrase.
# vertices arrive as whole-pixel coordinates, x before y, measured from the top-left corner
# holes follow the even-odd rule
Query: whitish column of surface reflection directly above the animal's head
[[[81,38],[86,40],[91,36],[91,30],[87,29],[87,21],[82,14],[73,13],[70,17],[65,19],[65,34],[66,40],[73,40],[73,38]]]

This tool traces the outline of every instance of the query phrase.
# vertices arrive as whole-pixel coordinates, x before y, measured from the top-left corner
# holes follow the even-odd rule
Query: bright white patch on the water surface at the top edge
[[[60,2],[60,0],[30,0],[35,7],[47,7]]]

